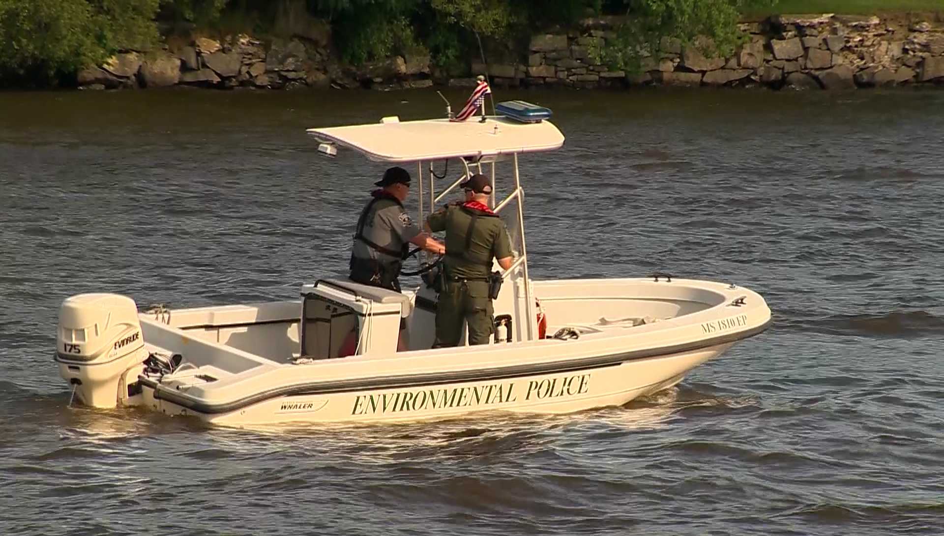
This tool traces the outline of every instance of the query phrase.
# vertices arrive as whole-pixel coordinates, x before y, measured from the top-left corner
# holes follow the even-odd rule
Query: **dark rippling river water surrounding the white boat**
[[[732,281],[772,327],[576,414],[246,430],[70,408],[63,298],[295,299],[344,272],[385,167],[304,128],[442,108],[0,93],[0,534],[944,533],[944,92],[497,96],[566,136],[522,160],[533,276]]]

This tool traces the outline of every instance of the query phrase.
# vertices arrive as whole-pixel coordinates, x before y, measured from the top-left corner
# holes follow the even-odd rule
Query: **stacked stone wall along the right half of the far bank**
[[[614,19],[584,21],[583,30],[531,39],[527,63],[489,65],[498,85],[579,88],[640,84],[854,89],[944,83],[944,24],[876,16],[777,15],[741,25],[750,38],[730,58],[705,58],[705,42],[664,40],[641,73],[608,68],[600,51]],[[699,46],[699,44],[701,46]],[[486,66],[473,63],[473,72]],[[453,83],[464,83],[454,80]]]

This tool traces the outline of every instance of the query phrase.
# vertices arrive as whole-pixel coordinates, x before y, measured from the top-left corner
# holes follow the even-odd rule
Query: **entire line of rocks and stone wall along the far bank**
[[[697,44],[664,40],[638,73],[614,71],[600,51],[615,36],[615,17],[582,21],[579,29],[535,35],[527,60],[482,64],[500,87],[583,89],[640,85],[740,86],[852,90],[877,86],[944,86],[944,22],[917,15],[775,15],[745,22],[749,41],[730,58],[706,58]],[[126,51],[77,75],[79,89],[194,86],[219,89],[423,88],[474,85],[430,68],[430,56],[396,56],[351,67],[330,44],[328,25],[312,21],[290,39],[262,42],[248,35],[197,38],[148,52]],[[705,43],[700,43],[705,44]]]

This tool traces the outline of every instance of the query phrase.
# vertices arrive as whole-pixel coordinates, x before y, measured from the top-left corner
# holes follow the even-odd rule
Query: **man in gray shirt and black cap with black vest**
[[[413,224],[403,209],[410,193],[410,174],[401,167],[388,169],[374,183],[379,190],[361,212],[351,250],[352,281],[400,291],[400,268],[413,243],[436,255],[446,253],[446,246]]]

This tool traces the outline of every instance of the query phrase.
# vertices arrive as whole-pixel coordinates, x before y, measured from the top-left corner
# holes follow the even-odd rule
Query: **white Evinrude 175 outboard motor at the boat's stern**
[[[136,382],[148,352],[131,298],[106,293],[66,298],[56,341],[59,375],[82,403],[114,408],[140,392]]]

